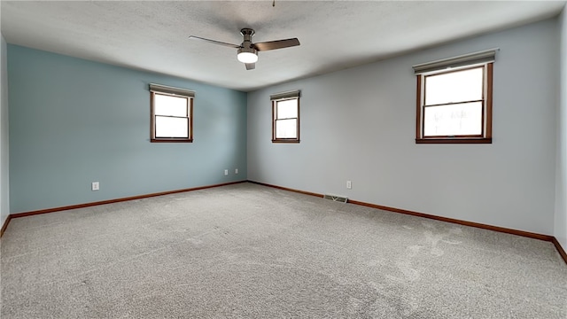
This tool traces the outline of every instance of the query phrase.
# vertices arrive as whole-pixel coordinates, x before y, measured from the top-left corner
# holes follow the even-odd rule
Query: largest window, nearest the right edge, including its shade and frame
[[[492,143],[493,61],[496,50],[414,66],[416,143]]]

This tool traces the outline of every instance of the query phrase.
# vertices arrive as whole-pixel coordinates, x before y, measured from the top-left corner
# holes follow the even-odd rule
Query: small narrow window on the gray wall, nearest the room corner
[[[299,90],[270,96],[272,142],[299,143]]]

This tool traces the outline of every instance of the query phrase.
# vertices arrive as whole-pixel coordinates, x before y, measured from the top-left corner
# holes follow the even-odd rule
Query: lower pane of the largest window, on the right
[[[423,108],[423,136],[482,134],[482,102]]]

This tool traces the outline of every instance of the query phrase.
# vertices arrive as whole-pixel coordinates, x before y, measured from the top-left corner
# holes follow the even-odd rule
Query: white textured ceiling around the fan
[[[249,91],[561,12],[564,1],[1,1],[7,43]],[[299,38],[246,71],[229,47]]]

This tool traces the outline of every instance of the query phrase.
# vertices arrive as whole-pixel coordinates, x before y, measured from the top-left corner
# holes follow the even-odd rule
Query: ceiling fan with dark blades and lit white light
[[[246,70],[252,70],[256,67],[256,61],[258,61],[258,51],[283,49],[283,48],[299,45],[298,38],[267,41],[263,43],[252,43],[252,35],[254,35],[254,30],[252,30],[249,27],[245,27],[242,30],[240,30],[240,34],[244,36],[244,41],[240,45],[232,44],[232,43],[223,43],[220,41],[206,39],[195,35],[190,35],[189,38],[203,40],[208,43],[221,44],[224,46],[238,49],[237,51],[238,61],[245,64]]]

